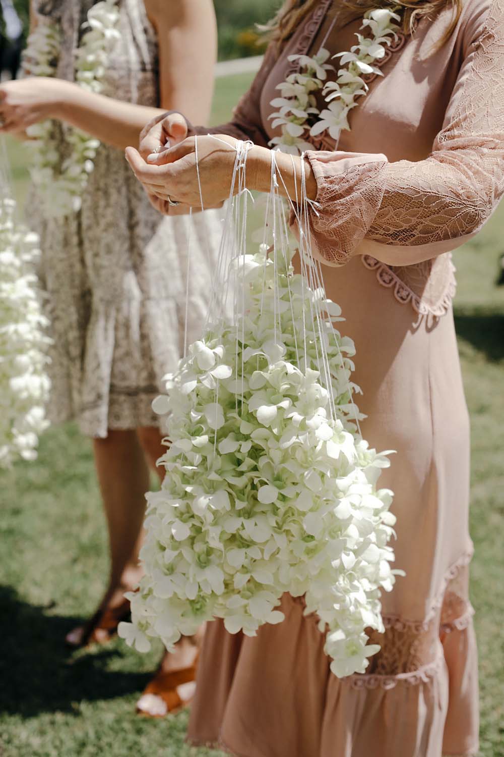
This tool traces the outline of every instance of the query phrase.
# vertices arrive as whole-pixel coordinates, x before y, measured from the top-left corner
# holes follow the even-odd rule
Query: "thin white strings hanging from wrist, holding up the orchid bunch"
[[[223,142],[229,147],[224,140],[214,137],[218,142]],[[233,314],[235,319],[235,381],[241,382],[241,410],[243,412],[243,394],[244,394],[244,374],[245,374],[245,356],[243,350],[244,343],[244,329],[246,319],[246,300],[245,300],[245,286],[243,285],[243,277],[245,274],[246,265],[246,229],[248,224],[248,203],[250,199],[250,192],[246,188],[246,158],[249,149],[252,147],[250,142],[237,142],[236,145],[236,157],[233,166],[233,173],[230,182],[230,194],[227,203],[227,211],[224,217],[224,232],[221,239],[221,245],[218,253],[218,261],[215,269],[215,276],[212,281],[212,291],[210,298],[209,313],[206,319],[206,329],[213,328],[215,334],[218,334],[219,324],[221,324],[222,316],[229,310],[229,298],[232,294],[233,301]],[[195,153],[196,153],[196,176],[199,189],[199,201],[203,209],[203,191],[201,185],[201,176],[199,171],[199,154],[197,137],[195,139]],[[295,173],[295,161],[291,156],[292,167]],[[284,307],[280,300],[283,297],[283,293],[279,291],[278,273],[279,264],[283,263],[286,269],[290,265],[289,250],[289,224],[286,218],[286,204],[283,202],[283,198],[280,195],[280,184],[283,185],[286,195],[289,197],[286,184],[283,180],[283,176],[278,168],[277,160],[274,151],[271,151],[271,190],[267,197],[267,212],[264,220],[263,229],[263,245],[268,245],[272,248],[272,262],[274,266],[273,270],[273,288],[274,288],[274,342],[278,344],[281,341],[281,312]],[[308,296],[310,307],[310,322],[313,324],[314,338],[313,343],[308,341],[308,323],[306,319],[305,308],[302,311],[303,319],[303,345],[302,356],[304,357],[304,369],[305,372],[309,367],[309,354],[313,349],[315,352],[314,360],[318,366],[320,378],[322,383],[329,394],[329,407],[331,413],[331,419],[334,421],[335,416],[335,385],[332,381],[332,369],[331,360],[328,354],[329,338],[330,343],[335,344],[337,350],[337,357],[339,364],[345,366],[345,357],[343,357],[340,347],[340,337],[335,330],[334,322],[332,320],[331,313],[326,313],[323,316],[323,307],[321,303],[326,299],[326,291],[323,284],[323,271],[320,265],[320,261],[315,260],[311,254],[312,240],[310,232],[310,213],[317,212],[318,204],[316,201],[312,201],[308,198],[307,186],[306,186],[306,170],[305,170],[305,156],[301,155],[301,195],[298,195],[297,180],[295,181],[295,197],[289,198],[287,207],[291,210],[296,225],[298,226],[299,237],[299,260],[301,265],[301,295],[303,301],[306,301],[308,294],[308,288],[311,290]],[[271,242],[271,245],[268,243]],[[240,263],[233,264],[233,260],[238,259]],[[189,260],[189,258],[188,258]],[[189,264],[189,263],[188,263]],[[240,271],[241,267],[241,271]],[[263,291],[261,296],[261,308],[260,316],[263,316],[264,306],[264,294],[268,286],[266,279],[267,269],[267,254],[264,255],[263,266]],[[242,282],[238,285],[238,277],[241,273]],[[287,292],[289,298],[289,307],[291,309],[292,319],[294,319],[294,298],[292,294],[292,288],[290,284],[290,277],[287,279]],[[232,290],[232,291],[231,291]],[[187,292],[188,294],[188,292]],[[240,298],[240,299],[237,299]],[[188,316],[188,297],[186,300],[186,323]],[[241,326],[241,328],[240,328]],[[185,342],[185,339],[184,339]],[[241,342],[241,344],[240,344]],[[301,353],[299,350],[297,338],[295,340],[295,352],[296,360],[300,364]],[[239,360],[239,354],[241,350],[241,360]],[[257,358],[258,359],[258,358]],[[240,369],[239,369],[240,364]],[[357,425],[357,430],[361,435],[360,423],[359,423],[359,411],[357,405],[354,402],[354,385],[351,382],[348,371],[347,385],[343,387],[348,392],[349,405],[352,408],[352,420]],[[338,388],[338,394],[340,395],[341,387]],[[218,391],[218,386],[217,386]],[[238,412],[238,392],[235,394],[237,402]],[[217,395],[218,396],[218,395]],[[217,450],[215,448],[215,454]]]

